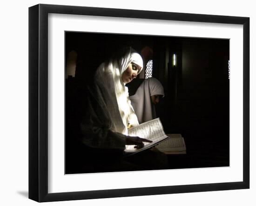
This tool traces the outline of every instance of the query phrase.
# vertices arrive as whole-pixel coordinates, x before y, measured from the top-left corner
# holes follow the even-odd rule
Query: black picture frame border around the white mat
[[[243,25],[243,181],[48,193],[48,14]],[[38,202],[191,193],[249,188],[249,18],[39,4],[29,8],[29,199]]]

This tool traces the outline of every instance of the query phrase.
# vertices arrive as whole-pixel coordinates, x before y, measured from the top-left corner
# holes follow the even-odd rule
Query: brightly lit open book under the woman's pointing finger
[[[129,154],[135,154],[148,149],[156,144],[159,144],[163,140],[167,140],[168,136],[164,133],[162,123],[159,118],[144,122],[138,126],[128,129],[129,136],[137,136],[153,141],[152,143],[143,142],[144,147],[137,149],[135,145],[127,145],[124,152]]]

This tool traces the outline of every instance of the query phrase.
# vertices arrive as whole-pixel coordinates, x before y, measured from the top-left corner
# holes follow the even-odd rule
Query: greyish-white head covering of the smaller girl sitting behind
[[[160,81],[151,77],[142,82],[135,95],[130,96],[131,104],[140,124],[156,118],[155,105],[150,98],[153,95],[164,96],[164,91]]]

